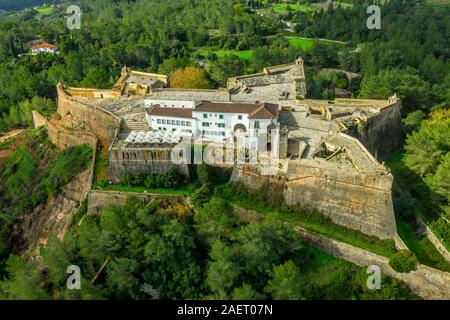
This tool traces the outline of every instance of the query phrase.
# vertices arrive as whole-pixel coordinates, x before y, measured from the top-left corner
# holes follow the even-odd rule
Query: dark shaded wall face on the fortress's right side
[[[404,134],[400,109],[399,101],[381,108],[379,114],[367,119],[362,131],[354,127],[349,134],[360,140],[377,159],[383,159],[401,146]]]

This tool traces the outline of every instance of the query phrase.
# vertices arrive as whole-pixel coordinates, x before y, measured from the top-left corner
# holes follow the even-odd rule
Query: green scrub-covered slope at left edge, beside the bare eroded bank
[[[21,215],[57,196],[92,160],[89,146],[59,152],[41,129],[28,132],[21,143],[0,169],[0,274],[17,245],[12,241],[13,226]]]

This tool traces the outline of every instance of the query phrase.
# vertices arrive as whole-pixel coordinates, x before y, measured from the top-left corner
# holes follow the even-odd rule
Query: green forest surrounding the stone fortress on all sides
[[[367,29],[371,1],[365,0],[314,13],[257,14],[279,2],[77,1],[83,12],[80,30],[67,29],[64,3],[44,16],[30,9],[3,12],[0,134],[30,128],[32,110],[51,115],[58,82],[110,88],[128,66],[168,74],[176,87],[218,88],[230,76],[301,56],[308,98],[333,100],[338,88],[354,98],[397,94],[402,99],[405,145],[386,159],[396,179],[396,218],[400,227],[412,228],[414,238],[420,217],[450,247],[450,9],[391,0],[381,7],[381,30]],[[0,9],[21,8],[0,0]],[[294,23],[292,30],[283,21]],[[57,45],[60,54],[30,55],[37,39]],[[311,45],[293,45],[293,39],[309,39]],[[342,71],[358,77],[349,81]],[[367,290],[365,270],[317,251],[283,223],[241,221],[233,214],[233,197],[276,203],[276,195],[250,198],[229,186],[217,190],[218,182],[202,171],[188,190],[198,214],[184,206],[156,201],[144,206],[129,199],[80,224],[85,204],[64,241],[52,237],[41,249],[42,265],[27,261],[12,245],[13,226],[89,166],[94,150],[60,152],[34,130],[14,143],[15,151],[0,163],[0,299],[417,298],[390,278],[382,290]],[[6,147],[0,144],[0,151]],[[173,172],[124,177],[122,186],[133,184],[174,188],[180,181]],[[412,243],[421,241],[416,238]],[[420,250],[414,253],[421,263],[439,264]],[[65,287],[65,268],[74,263],[84,270],[82,290]]]

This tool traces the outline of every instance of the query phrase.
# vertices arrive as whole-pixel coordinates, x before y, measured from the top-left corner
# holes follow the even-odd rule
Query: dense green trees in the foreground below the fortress
[[[224,200],[211,200],[194,217],[177,210],[175,204],[153,201],[143,206],[130,198],[124,206],[85,218],[64,242],[52,237],[42,249],[45,273],[11,256],[0,297],[417,298],[390,278],[383,278],[381,290],[367,289],[364,269],[306,246],[282,222],[243,224]],[[106,268],[91,284],[105,261]],[[70,264],[82,270],[81,290],[65,286]]]

